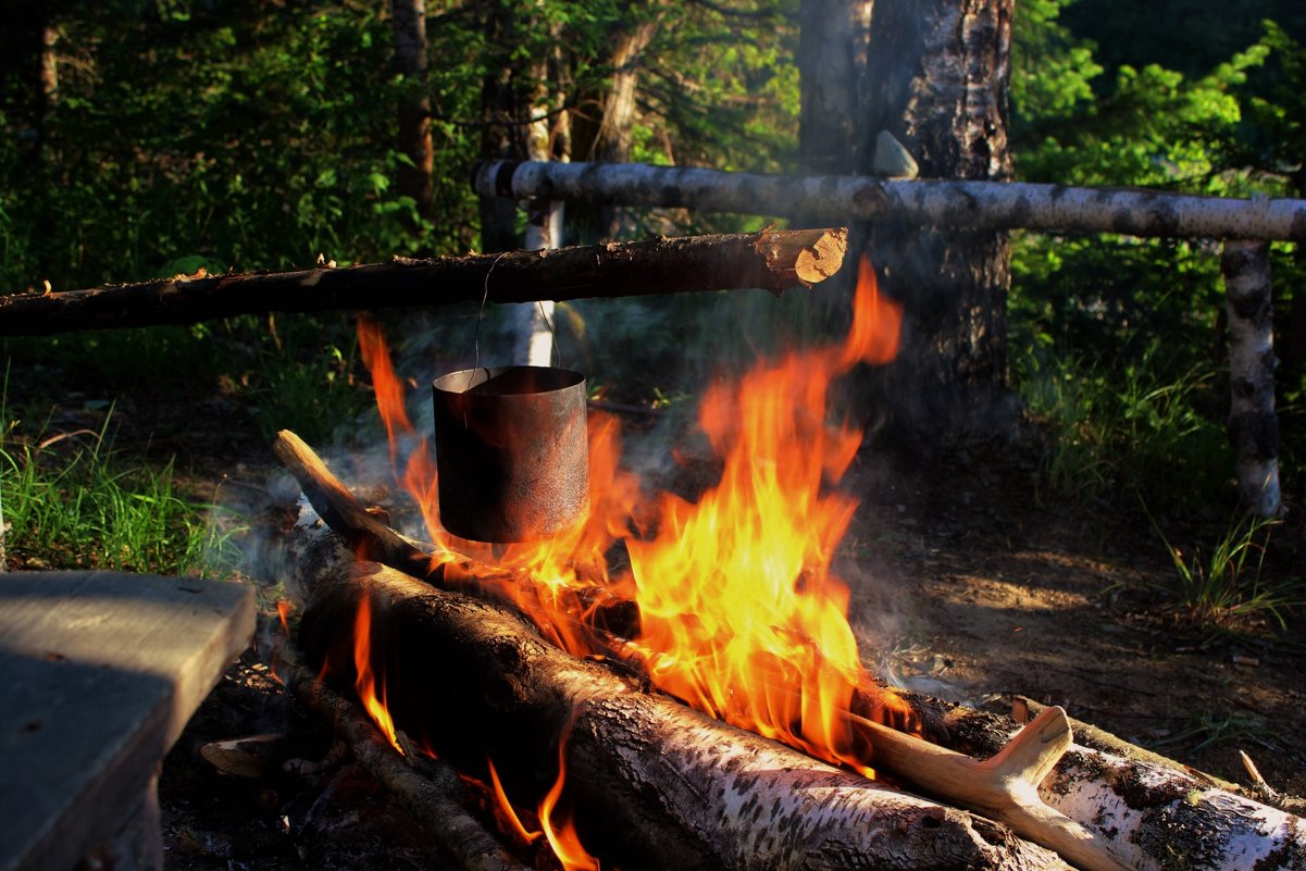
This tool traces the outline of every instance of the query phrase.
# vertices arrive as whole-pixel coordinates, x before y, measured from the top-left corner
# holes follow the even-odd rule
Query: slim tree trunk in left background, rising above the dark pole
[[[431,144],[431,98],[426,93],[426,0],[390,0],[394,67],[404,77],[398,106],[398,150],[411,166],[400,166],[398,191],[413,197],[418,217],[431,217],[435,148]]]

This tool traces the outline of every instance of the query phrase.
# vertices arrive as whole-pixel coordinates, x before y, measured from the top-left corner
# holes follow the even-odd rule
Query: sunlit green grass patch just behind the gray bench
[[[4,419],[0,509],[8,560],[29,568],[230,575],[231,531],[178,490],[172,465],[124,461],[98,432],[25,437]]]

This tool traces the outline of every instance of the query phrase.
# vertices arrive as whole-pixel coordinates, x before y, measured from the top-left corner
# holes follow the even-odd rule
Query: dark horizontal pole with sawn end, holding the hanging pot
[[[838,272],[845,230],[652,239],[340,269],[172,278],[0,296],[0,336],[189,324],[249,312],[443,306],[811,286]]]

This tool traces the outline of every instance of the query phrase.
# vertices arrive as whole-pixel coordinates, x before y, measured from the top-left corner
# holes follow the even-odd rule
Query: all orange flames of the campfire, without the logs
[[[832,383],[859,363],[893,359],[901,308],[879,295],[866,259],[858,268],[853,325],[844,342],[763,362],[737,383],[718,383],[699,423],[724,462],[721,481],[697,503],[663,495],[649,503],[619,465],[615,418],[590,411],[590,515],[575,530],[521,545],[483,545],[439,525],[434,462],[422,440],[402,479],[422,507],[434,559],[456,556],[494,567],[475,578],[513,598],[563,649],[611,653],[589,631],[601,592],[633,599],[641,635],[623,645],[653,682],[693,706],[807,752],[871,774],[865,742],[854,746],[854,689],[870,686],[848,623],[849,589],[831,560],[857,503],[832,487],[848,471],[862,434],[827,420]],[[363,359],[398,457],[411,435],[402,384],[380,330],[359,323]],[[396,460],[397,461],[397,460]],[[635,537],[633,529],[654,530]],[[629,569],[611,575],[605,554],[624,541]],[[632,654],[633,652],[633,654]],[[893,697],[872,700],[885,718]],[[901,703],[899,703],[901,708]],[[572,850],[565,825],[550,821],[563,773],[541,807],[546,837],[565,867],[593,862]],[[505,799],[502,799],[505,803]]]

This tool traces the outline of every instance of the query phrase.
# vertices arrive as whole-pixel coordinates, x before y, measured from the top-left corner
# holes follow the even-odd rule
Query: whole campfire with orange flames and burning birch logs
[[[708,389],[699,426],[721,477],[695,500],[645,492],[620,465],[616,419],[592,414],[584,521],[494,545],[441,525],[431,445],[362,321],[394,479],[427,541],[389,529],[283,432],[278,454],[316,509],[291,541],[300,646],[353,686],[392,755],[486,785],[504,841],[547,842],[568,870],[1153,867],[1145,837],[1173,820],[1119,798],[1126,781],[1147,782],[1148,808],[1271,832],[1239,855],[1296,849],[1285,815],[1072,748],[1058,708],[1012,738],[866,671],[832,572],[857,507],[837,484],[862,435],[827,404],[837,377],[893,358],[899,319],[862,261],[842,342]],[[876,780],[885,772],[947,804]],[[1118,800],[1098,794],[1104,780]]]

